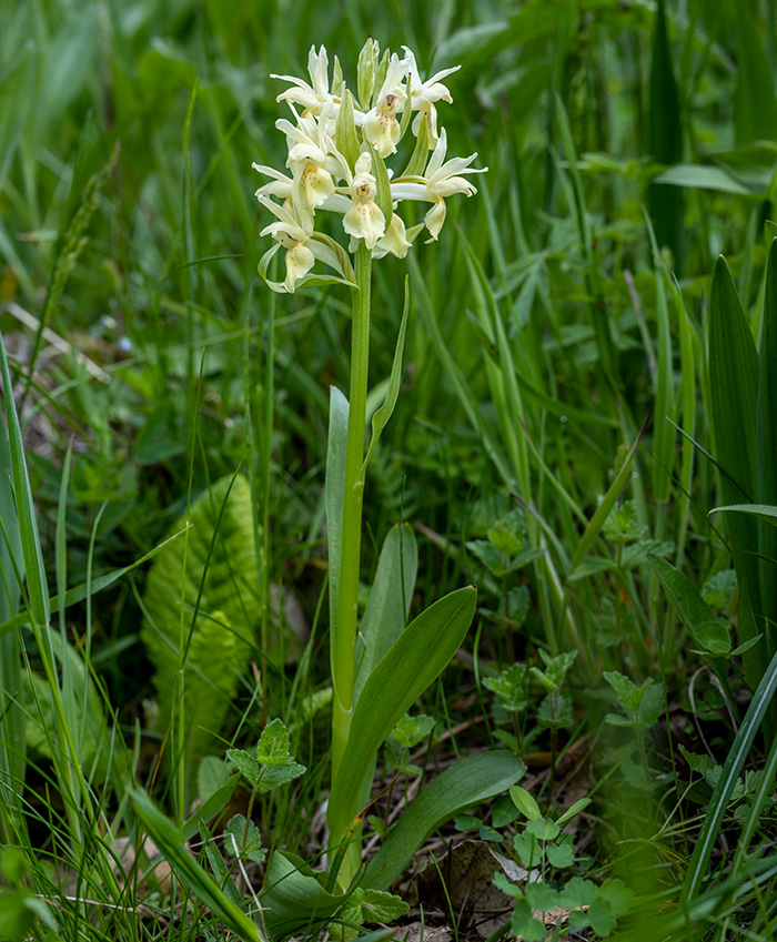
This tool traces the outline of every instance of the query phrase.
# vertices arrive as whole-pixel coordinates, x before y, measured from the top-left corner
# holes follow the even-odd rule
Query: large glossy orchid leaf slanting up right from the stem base
[[[354,797],[398,719],[458,650],[475,614],[477,590],[451,592],[423,611],[374,667],[353,711],[351,735],[330,794],[330,831],[344,834]]]

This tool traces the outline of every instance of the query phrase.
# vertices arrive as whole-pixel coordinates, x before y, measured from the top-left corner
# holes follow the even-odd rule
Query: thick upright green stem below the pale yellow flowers
[[[354,658],[359,620],[359,571],[362,546],[362,498],[364,442],[370,363],[370,292],[372,254],[361,241],[356,250],[356,283],[352,292],[351,388],[349,396],[345,494],[343,498],[342,556],[336,624],[331,627],[331,662],[334,699],[332,705],[332,782],[343,760],[353,711]],[[347,802],[347,820],[330,821],[332,847],[344,837],[359,808],[361,782],[353,783]],[[354,845],[357,847],[354,841]],[[349,854],[350,857],[350,854]],[[347,868],[344,868],[347,870]]]

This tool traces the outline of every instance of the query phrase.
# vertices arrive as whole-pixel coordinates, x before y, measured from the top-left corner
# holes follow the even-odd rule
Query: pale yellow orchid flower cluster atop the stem
[[[445,129],[437,126],[436,103],[452,101],[442,80],[460,67],[423,81],[415,57],[407,47],[402,48],[402,59],[389,50],[381,57],[377,42],[367,40],[359,57],[357,98],[346,87],[336,57],[330,83],[323,45],[317,52],[312,47],[307,57],[310,83],[293,75],[271,77],[290,83],[278,100],[289,103],[294,119],[275,123],[286,135],[289,174],[253,164],[270,178],[259,188],[256,197],[276,221],[260,234],[272,235],[278,244],[264,254],[259,270],[274,291],[293,292],[302,284],[332,282],[353,285],[349,252],[356,251],[360,240],[373,257],[391,252],[404,259],[424,226],[431,240],[437,239],[447,196],[476,192],[464,174],[485,172],[471,166],[477,154],[446,161]],[[396,175],[386,160],[396,154],[408,131],[415,138],[414,149]],[[422,224],[405,227],[396,212],[403,200],[432,204]],[[342,215],[343,230],[350,236],[349,252],[315,231],[319,210]],[[268,266],[282,247],[286,276],[273,282],[266,277]],[[311,274],[316,260],[335,274]]]

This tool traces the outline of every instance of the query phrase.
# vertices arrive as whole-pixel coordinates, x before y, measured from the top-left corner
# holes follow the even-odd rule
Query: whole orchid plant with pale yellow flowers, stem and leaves
[[[476,599],[474,587],[458,589],[406,625],[417,558],[413,533],[401,525],[386,537],[361,625],[359,619],[365,475],[398,396],[408,312],[405,293],[389,392],[373,416],[365,453],[372,261],[387,253],[405,257],[424,229],[428,241],[436,241],[445,221],[446,199],[456,193],[473,195],[475,186],[465,176],[485,172],[472,166],[476,153],[446,160],[447,136],[438,124],[437,104],[452,101],[443,80],[458,67],[424,81],[411,50],[403,50],[402,58],[389,50],[381,55],[379,43],[369,39],[359,55],[356,95],[336,58],[330,80],[330,61],[323,47],[310,51],[310,82],[273,75],[289,83],[278,100],[287,104],[292,120],[276,122],[286,138],[287,172],[254,164],[269,178],[256,197],[275,217],[260,233],[276,242],[259,263],[266,284],[281,293],[293,293],[304,285],[343,284],[352,296],[350,394],[346,399],[339,389],[331,391],[326,468],[333,686],[326,887],[341,894],[353,890],[356,882],[361,821],[377,750],[462,644]],[[400,151],[405,139],[413,143],[403,148],[410,155],[402,165]],[[391,165],[394,160],[400,160],[396,166]],[[405,224],[400,214],[405,201],[430,204],[422,223]],[[332,234],[337,233],[339,222],[344,234],[340,241]],[[285,277],[273,281],[268,274],[270,262],[281,250],[285,252]],[[316,263],[324,267],[316,269]],[[426,810],[422,807],[417,812],[421,818],[412,827],[404,832],[400,828],[398,837],[390,833],[384,859],[371,863],[366,878],[370,885],[386,889],[386,874],[403,855],[410,858],[426,833],[462,807],[504,790],[518,774],[517,760],[512,756],[492,753],[475,759],[468,771],[451,770],[447,782],[430,792]],[[291,892],[290,862],[300,864],[297,873],[304,870],[304,864],[291,857],[279,859],[276,854],[275,871],[272,862],[269,869],[265,885],[271,887],[268,892],[276,913],[284,911],[284,893]],[[326,906],[329,902],[319,899],[319,904]],[[299,909],[299,899],[294,906]]]

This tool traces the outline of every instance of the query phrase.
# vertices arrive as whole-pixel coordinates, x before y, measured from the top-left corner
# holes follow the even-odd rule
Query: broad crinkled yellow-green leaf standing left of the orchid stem
[[[182,516],[172,533],[186,523]],[[261,618],[248,478],[218,480],[192,504],[189,523],[188,544],[169,544],[151,565],[140,635],[153,665],[163,728],[174,709],[173,690],[185,657],[186,772],[192,781],[198,757],[221,748],[216,736],[252,657]],[[273,651],[264,654],[272,660]]]

